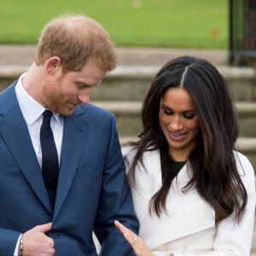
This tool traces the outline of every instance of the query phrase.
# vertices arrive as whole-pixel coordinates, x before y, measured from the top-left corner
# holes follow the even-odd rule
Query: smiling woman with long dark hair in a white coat
[[[139,236],[115,221],[137,256],[250,254],[253,166],[234,147],[238,123],[224,78],[183,56],[156,74],[143,131],[123,148]]]

